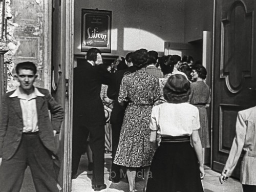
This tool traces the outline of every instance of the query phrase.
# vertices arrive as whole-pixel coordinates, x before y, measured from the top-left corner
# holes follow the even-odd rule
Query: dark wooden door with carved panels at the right
[[[238,111],[256,105],[256,19],[253,0],[216,0],[212,168],[222,171]],[[240,176],[241,159],[233,172]]]

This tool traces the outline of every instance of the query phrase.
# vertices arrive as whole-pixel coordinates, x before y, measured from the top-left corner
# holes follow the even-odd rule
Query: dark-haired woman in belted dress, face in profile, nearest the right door
[[[211,101],[210,89],[204,82],[207,71],[202,65],[195,65],[192,68],[192,79],[195,82],[191,83],[191,94],[189,97],[189,103],[195,105],[199,110],[200,125],[199,136],[202,142],[203,148],[210,147],[209,139],[209,125],[206,108]]]

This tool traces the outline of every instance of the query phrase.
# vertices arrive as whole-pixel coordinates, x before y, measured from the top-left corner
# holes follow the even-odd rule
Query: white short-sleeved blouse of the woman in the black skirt
[[[162,103],[152,109],[150,129],[166,136],[190,136],[200,129],[199,111],[189,103]]]

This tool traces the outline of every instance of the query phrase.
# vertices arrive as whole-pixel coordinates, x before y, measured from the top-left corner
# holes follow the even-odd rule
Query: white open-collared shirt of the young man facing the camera
[[[18,97],[20,107],[22,108],[23,118],[23,133],[37,132],[38,130],[38,119],[36,111],[36,97],[44,97],[37,88],[34,88],[34,92],[28,97],[19,90],[16,89],[10,97]]]

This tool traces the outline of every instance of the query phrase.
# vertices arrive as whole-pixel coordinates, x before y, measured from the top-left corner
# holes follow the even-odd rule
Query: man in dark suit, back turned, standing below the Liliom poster
[[[106,188],[104,184],[104,108],[100,98],[101,84],[109,84],[111,73],[104,68],[101,53],[92,48],[87,52],[86,62],[77,62],[74,69],[73,151],[72,175],[77,174],[81,158],[81,145],[90,132],[90,147],[93,152],[92,188]]]

